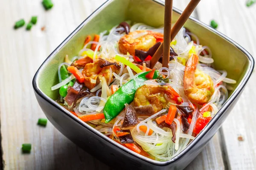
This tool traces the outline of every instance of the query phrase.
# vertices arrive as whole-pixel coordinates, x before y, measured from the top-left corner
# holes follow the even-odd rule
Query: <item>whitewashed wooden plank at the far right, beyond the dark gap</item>
[[[247,0],[202,1],[198,6],[201,21],[209,24],[218,22],[218,31],[242,45],[253,56],[256,55],[255,4],[249,8]],[[226,145],[224,150],[232,170],[256,169],[256,73],[253,72],[239,101],[227,117],[221,129],[221,138]],[[242,136],[244,141],[239,141]]]

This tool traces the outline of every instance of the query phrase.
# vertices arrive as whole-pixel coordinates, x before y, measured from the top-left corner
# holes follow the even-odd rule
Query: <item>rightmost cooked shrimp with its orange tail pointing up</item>
[[[184,91],[189,100],[203,105],[214,93],[213,81],[208,74],[196,69],[198,56],[192,54],[184,71]]]

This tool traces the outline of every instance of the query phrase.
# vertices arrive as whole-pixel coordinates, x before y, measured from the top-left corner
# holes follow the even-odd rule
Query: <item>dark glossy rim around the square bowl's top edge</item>
[[[173,157],[171,160],[168,161],[156,161],[156,160],[152,160],[149,159],[145,156],[142,156],[138,153],[134,153],[131,150],[129,150],[128,148],[122,146],[121,144],[114,142],[113,140],[111,140],[110,138],[108,138],[107,136],[103,135],[102,133],[100,133],[99,131],[95,130],[93,127],[90,127],[90,125],[87,125],[87,123],[84,123],[83,121],[81,121],[80,119],[78,119],[76,116],[74,116],[72,113],[70,113],[69,111],[67,111],[66,109],[64,109],[61,105],[58,105],[57,102],[55,102],[53,99],[49,98],[46,94],[44,94],[43,91],[41,91],[41,89],[38,86],[38,75],[40,73],[40,71],[42,70],[42,68],[44,68],[44,65],[49,62],[49,60],[55,56],[55,54],[91,19],[93,18],[99,11],[101,11],[101,9],[105,8],[105,6],[107,6],[108,4],[110,4],[111,2],[113,2],[115,0],[106,0],[105,3],[103,3],[99,8],[97,8],[95,11],[93,11],[92,14],[90,14],[89,17],[87,17],[63,42],[61,42],[60,45],[58,45],[58,47],[47,57],[47,59],[45,59],[45,61],[41,64],[41,66],[38,68],[38,71],[36,71],[35,76],[32,80],[32,86],[34,88],[34,91],[36,94],[38,94],[39,96],[41,96],[44,100],[46,100],[47,102],[49,102],[52,106],[54,106],[55,108],[57,108],[58,110],[60,110],[61,112],[65,113],[67,116],[69,116],[71,119],[73,119],[74,121],[76,121],[77,123],[79,123],[80,125],[82,125],[83,127],[87,128],[87,130],[90,130],[92,133],[98,135],[101,139],[105,140],[106,142],[110,142],[111,144],[113,144],[114,146],[116,146],[118,149],[131,154],[133,156],[135,156],[136,158],[140,159],[141,161],[145,161],[149,164],[155,165],[155,166],[166,166],[169,164],[174,163],[175,161],[177,161],[178,159],[182,158],[183,155],[185,155],[189,150],[192,149],[192,147],[199,142],[199,140],[201,140],[201,138],[203,136],[205,136],[208,131],[212,128],[212,126],[224,115],[223,113],[227,110],[227,108],[229,108],[230,104],[234,101],[234,99],[240,94],[241,90],[244,88],[245,84],[247,83],[248,79],[250,78],[252,72],[253,72],[253,68],[254,68],[254,59],[253,57],[244,49],[242,48],[239,44],[237,44],[235,41],[231,40],[230,38],[228,38],[227,36],[225,36],[224,34],[220,33],[219,31],[215,30],[214,28],[208,26],[205,23],[202,23],[201,21],[197,20],[194,17],[189,17],[189,20],[194,21],[195,23],[198,23],[200,26],[203,26],[206,29],[209,29],[210,31],[214,32],[215,34],[218,34],[220,37],[224,38],[225,40],[227,40],[228,42],[232,43],[233,45],[236,46],[236,48],[238,48],[240,51],[242,51],[248,58],[249,61],[249,66],[247,68],[247,71],[244,75],[244,77],[241,79],[239,85],[236,87],[236,89],[233,91],[233,94],[230,95],[229,99],[227,99],[227,101],[222,105],[221,109],[215,114],[215,116],[212,118],[212,120],[208,123],[208,125],[204,128],[204,130],[201,131],[201,133],[198,134],[198,136],[192,140],[192,142],[190,142],[185,149],[183,149],[179,154],[177,154],[177,156]],[[164,2],[161,0],[151,0],[154,1],[162,6],[164,6]],[[173,11],[175,11],[178,14],[181,14],[182,11],[180,11],[177,8],[173,8]]]

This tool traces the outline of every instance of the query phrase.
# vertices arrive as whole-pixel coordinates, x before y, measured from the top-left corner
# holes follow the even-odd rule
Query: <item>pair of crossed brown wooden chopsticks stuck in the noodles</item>
[[[185,24],[186,20],[194,11],[200,0],[191,0],[188,6],[172,28],[172,1],[165,0],[165,12],[164,12],[164,28],[163,28],[163,43],[159,46],[152,59],[150,60],[150,68],[154,68],[154,65],[160,59],[163,54],[163,67],[169,67],[170,60],[170,43],[180,31],[180,28]]]

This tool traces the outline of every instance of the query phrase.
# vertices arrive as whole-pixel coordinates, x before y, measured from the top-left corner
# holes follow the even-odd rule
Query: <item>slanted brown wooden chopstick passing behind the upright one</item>
[[[195,10],[195,7],[198,5],[199,2],[200,2],[200,0],[191,0],[189,2],[188,6],[182,12],[179,19],[177,20],[177,22],[175,23],[175,25],[172,28],[171,41],[174,39],[174,37],[180,31],[180,28],[182,28],[182,26],[185,24],[186,20],[189,18],[189,16]],[[150,60],[150,68],[151,69],[154,68],[154,65],[160,59],[162,52],[163,52],[163,43],[160,45],[160,47],[157,49],[157,51],[153,55],[152,59]]]

